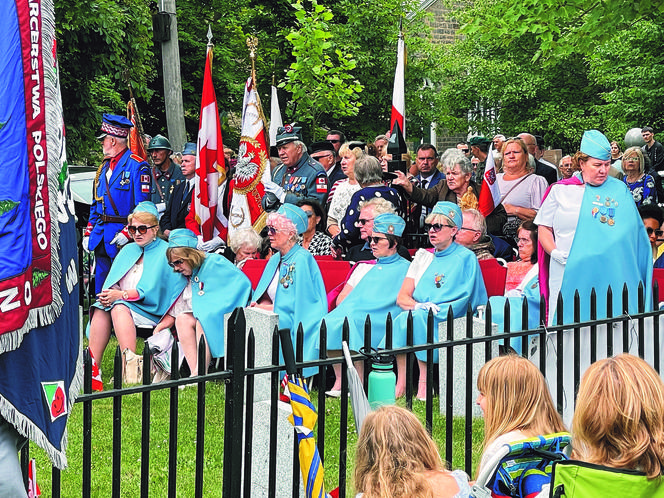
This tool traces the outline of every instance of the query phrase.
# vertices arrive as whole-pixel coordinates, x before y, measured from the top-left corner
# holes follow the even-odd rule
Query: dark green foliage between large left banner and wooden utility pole
[[[102,112],[124,114],[129,92],[148,101],[154,78],[143,0],[55,0],[62,103],[71,163],[100,158]]]

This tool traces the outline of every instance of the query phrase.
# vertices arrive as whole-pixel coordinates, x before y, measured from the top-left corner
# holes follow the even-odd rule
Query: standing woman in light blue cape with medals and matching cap
[[[568,180],[551,186],[537,213],[539,225],[539,282],[540,292],[548,302],[549,324],[574,323],[574,294],[580,297],[581,321],[590,319],[590,296],[593,288],[597,296],[597,318],[607,317],[607,291],[613,293],[613,315],[622,314],[622,290],[629,292],[628,313],[638,312],[638,287],[645,289],[646,309],[652,301],[652,249],[639,217],[634,199],[627,186],[609,176],[611,145],[597,130],[586,131],[581,140],[579,166]],[[563,316],[558,317],[556,303],[563,297]],[[605,332],[597,331],[597,351],[604,348]],[[575,357],[574,334],[565,330],[563,355],[566,362]],[[617,334],[615,340],[618,341]],[[555,372],[558,357],[553,346],[555,338],[546,346],[547,373]],[[590,362],[590,332],[581,329],[577,352],[582,374]],[[564,399],[563,420],[572,416],[574,380],[572,372],[563,378],[547,375],[549,387],[556,392],[562,382]]]

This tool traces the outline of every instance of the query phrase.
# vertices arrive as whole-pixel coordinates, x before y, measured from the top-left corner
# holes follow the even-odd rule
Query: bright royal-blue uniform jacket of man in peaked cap
[[[110,160],[105,160],[100,166],[101,171],[95,180],[93,201],[90,206],[90,224],[93,226],[90,233],[90,250],[94,250],[100,243],[106,247],[106,253],[114,258],[118,248],[111,245],[113,237],[127,224],[127,216],[134,210],[139,202],[150,199],[150,167],[139,156],[127,149],[118,160],[110,179],[107,181]],[[110,201],[110,197],[113,202]],[[115,204],[115,208],[113,207]],[[117,210],[117,211],[116,211]],[[124,222],[104,221],[103,216],[124,218]]]

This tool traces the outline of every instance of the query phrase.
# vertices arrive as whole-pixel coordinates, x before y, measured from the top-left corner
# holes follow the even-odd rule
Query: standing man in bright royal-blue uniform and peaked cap
[[[150,200],[150,167],[127,147],[131,121],[104,114],[101,142],[104,161],[97,170],[90,206],[90,221],[83,235],[83,249],[95,253],[95,292],[106,280],[119,248],[129,242],[127,216],[136,205]]]

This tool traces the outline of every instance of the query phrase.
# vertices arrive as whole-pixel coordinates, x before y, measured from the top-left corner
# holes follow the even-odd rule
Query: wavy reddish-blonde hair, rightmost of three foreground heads
[[[664,469],[664,384],[642,359],[621,354],[592,364],[572,419],[574,456],[645,472]]]

